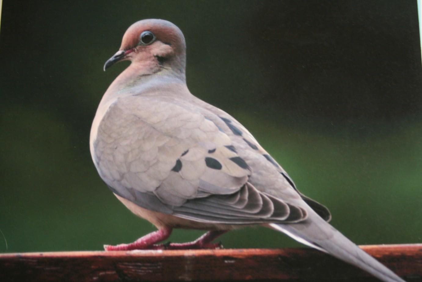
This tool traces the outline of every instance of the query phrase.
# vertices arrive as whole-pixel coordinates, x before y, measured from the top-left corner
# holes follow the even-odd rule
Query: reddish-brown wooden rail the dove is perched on
[[[422,244],[360,246],[406,281],[422,281]],[[0,281],[378,281],[314,249],[0,254]]]

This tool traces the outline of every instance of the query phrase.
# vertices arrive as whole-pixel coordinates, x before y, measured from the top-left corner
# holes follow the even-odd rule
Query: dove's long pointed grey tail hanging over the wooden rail
[[[390,269],[368,255],[338,230],[325,222],[314,211],[301,224],[276,224],[270,226],[313,248],[327,252],[338,259],[353,264],[385,282],[404,282]]]

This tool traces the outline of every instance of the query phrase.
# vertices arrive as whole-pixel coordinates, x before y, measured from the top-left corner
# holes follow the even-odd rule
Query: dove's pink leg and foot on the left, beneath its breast
[[[165,245],[154,245],[167,239],[171,234],[171,228],[162,228],[142,236],[138,240],[130,244],[119,244],[116,246],[104,245],[106,251],[129,251],[129,250],[143,250],[143,249],[165,249]]]

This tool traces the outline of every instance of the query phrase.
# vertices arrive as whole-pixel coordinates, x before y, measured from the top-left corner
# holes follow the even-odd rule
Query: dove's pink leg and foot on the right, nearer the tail
[[[201,237],[197,238],[195,241],[187,243],[170,243],[170,244],[160,244],[155,245],[157,247],[163,246],[163,249],[170,250],[184,250],[184,249],[222,249],[223,245],[219,243],[211,243],[219,237],[220,235],[226,233],[227,230],[212,230],[208,231]]]

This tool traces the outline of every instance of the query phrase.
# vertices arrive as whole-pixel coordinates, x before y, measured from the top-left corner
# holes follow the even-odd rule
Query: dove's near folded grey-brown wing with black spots
[[[254,187],[253,168],[224,126],[220,117],[187,101],[120,98],[98,128],[95,163],[113,192],[149,210],[226,224],[306,219],[291,187],[286,195],[295,201]],[[244,155],[254,154],[251,148]]]

